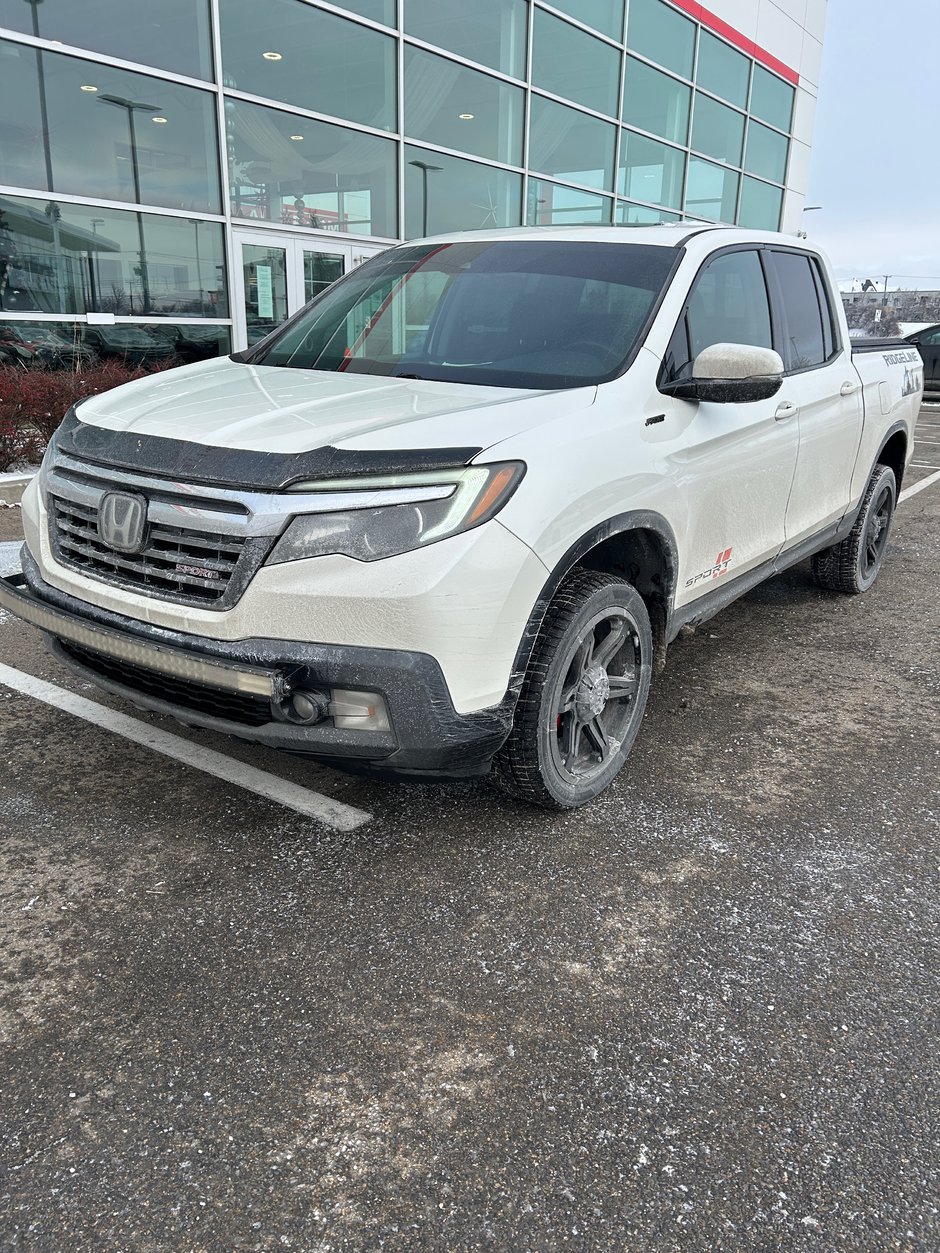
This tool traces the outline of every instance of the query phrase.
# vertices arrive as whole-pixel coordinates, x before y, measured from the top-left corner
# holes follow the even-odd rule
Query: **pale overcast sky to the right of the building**
[[[940,288],[940,0],[828,0],[806,203],[838,278]]]

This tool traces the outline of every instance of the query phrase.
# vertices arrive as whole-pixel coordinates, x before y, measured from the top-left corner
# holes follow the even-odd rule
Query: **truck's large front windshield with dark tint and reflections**
[[[629,357],[676,258],[655,244],[558,239],[392,248],[248,360],[494,387],[603,382]]]

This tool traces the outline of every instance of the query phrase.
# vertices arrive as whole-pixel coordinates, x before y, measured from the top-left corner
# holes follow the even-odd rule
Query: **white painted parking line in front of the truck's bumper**
[[[308,792],[307,788],[279,779],[276,774],[246,766],[243,762],[217,753],[212,748],[202,748],[199,744],[193,744],[180,736],[172,736],[158,727],[149,727],[145,722],[129,718],[127,714],[95,704],[93,700],[85,700],[84,697],[75,695],[74,692],[56,688],[53,683],[45,683],[43,679],[24,674],[21,670],[14,670],[3,663],[0,663],[0,683],[14,692],[21,692],[35,700],[41,700],[54,709],[70,713],[75,718],[83,718],[95,727],[110,730],[115,736],[123,736],[124,739],[132,739],[135,744],[152,748],[155,753],[172,757],[184,766],[192,766],[206,774],[214,774],[216,778],[221,778],[226,783],[233,783],[247,792],[263,796],[268,801],[295,809],[307,818],[316,818],[336,831],[355,831],[357,827],[365,826],[372,817],[365,809],[356,809],[351,804],[321,796],[320,792]]]

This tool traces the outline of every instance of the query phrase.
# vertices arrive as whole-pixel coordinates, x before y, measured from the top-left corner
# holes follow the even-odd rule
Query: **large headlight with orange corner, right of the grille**
[[[290,524],[268,564],[307,556],[342,554],[377,561],[434,544],[488,523],[505,505],[525,474],[521,461],[390,475],[295,484],[291,490],[323,492],[323,511],[303,514]],[[348,495],[353,507],[342,505]],[[370,507],[373,501],[382,501]]]

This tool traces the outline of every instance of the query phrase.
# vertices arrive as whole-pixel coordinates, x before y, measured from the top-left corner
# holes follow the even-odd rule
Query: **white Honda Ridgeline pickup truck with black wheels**
[[[0,605],[189,725],[570,808],[683,625],[808,556],[871,586],[921,390],[793,238],[404,244],[248,352],[75,406]]]

